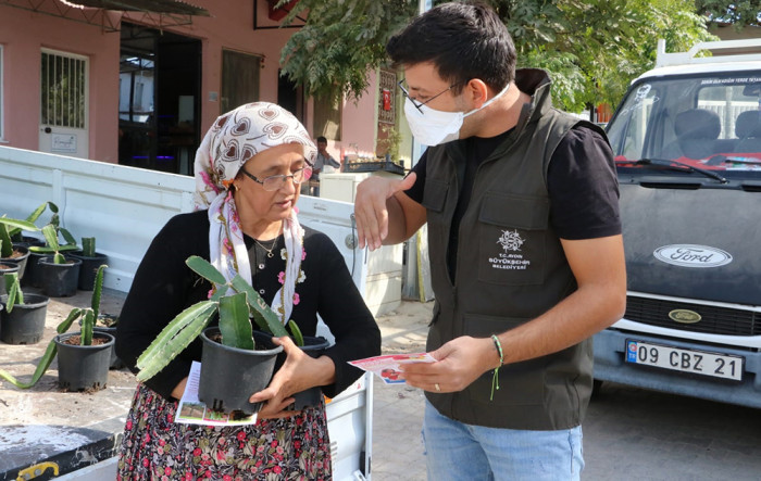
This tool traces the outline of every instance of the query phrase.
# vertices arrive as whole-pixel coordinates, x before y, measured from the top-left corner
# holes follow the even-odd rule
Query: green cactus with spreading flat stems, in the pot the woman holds
[[[212,282],[213,294],[179,313],[140,354],[138,381],[155,376],[177,354],[187,347],[209,325],[215,313],[220,315],[222,343],[238,349],[253,350],[252,318],[260,329],[275,337],[288,336],[285,326],[266,302],[246,280],[236,275],[230,281],[208,261],[190,256],[186,264],[196,274]],[[229,293],[233,291],[234,293]],[[303,337],[294,320],[288,322],[294,342],[303,345]]]

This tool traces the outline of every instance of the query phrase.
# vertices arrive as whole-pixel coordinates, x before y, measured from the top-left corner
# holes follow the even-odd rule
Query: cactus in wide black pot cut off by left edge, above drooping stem
[[[18,273],[2,279],[7,294],[0,295],[4,306],[0,312],[0,340],[7,344],[36,344],[45,332],[48,302],[45,295],[24,294]]]

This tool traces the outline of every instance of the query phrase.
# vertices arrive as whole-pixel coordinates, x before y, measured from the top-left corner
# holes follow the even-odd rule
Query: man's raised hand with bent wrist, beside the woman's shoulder
[[[414,173],[401,180],[385,177],[370,177],[357,187],[354,217],[360,249],[379,249],[388,237],[388,210],[386,201],[397,192],[402,192],[415,183]],[[403,223],[403,219],[401,219]]]

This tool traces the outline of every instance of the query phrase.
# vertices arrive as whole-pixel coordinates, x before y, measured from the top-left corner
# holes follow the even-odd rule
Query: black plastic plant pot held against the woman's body
[[[254,351],[228,347],[214,340],[219,333],[219,327],[207,328],[201,333],[203,352],[198,398],[214,410],[258,413],[263,403],[249,403],[248,398],[270,384],[275,358],[283,346],[254,332]]]

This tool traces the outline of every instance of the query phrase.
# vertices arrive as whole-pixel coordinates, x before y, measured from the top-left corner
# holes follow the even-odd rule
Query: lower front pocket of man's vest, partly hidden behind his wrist
[[[491,334],[504,332],[524,322],[528,318],[497,317],[481,314],[464,315],[464,333],[473,338],[488,338]],[[499,368],[499,389],[494,390],[491,397],[491,381],[494,370],[488,370],[466,388],[473,402],[489,405],[542,405],[545,398],[545,369],[547,358],[522,360],[506,364]]]

